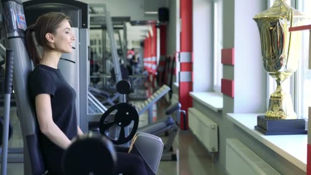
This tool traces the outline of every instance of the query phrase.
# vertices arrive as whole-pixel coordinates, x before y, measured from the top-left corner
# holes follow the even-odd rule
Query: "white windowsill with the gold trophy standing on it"
[[[307,135],[265,136],[254,129],[258,115],[262,114],[227,114],[227,118],[306,172]]]

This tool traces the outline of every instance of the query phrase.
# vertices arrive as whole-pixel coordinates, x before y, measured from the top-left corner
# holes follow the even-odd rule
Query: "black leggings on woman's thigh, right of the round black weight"
[[[147,170],[142,157],[128,153],[128,148],[118,147],[117,150],[117,174],[123,175],[147,175]]]

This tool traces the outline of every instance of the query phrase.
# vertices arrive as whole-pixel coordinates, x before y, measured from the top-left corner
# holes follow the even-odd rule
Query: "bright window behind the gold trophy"
[[[289,5],[309,13],[311,15],[311,1],[309,0],[286,0]],[[270,7],[274,1],[268,1]],[[307,119],[308,117],[308,106],[311,106],[311,70],[308,70],[308,53],[309,53],[309,31],[305,31],[302,37],[302,48],[301,55],[299,58],[299,65],[297,71],[287,80],[282,83],[282,89],[291,94],[293,100],[293,107],[298,118]],[[270,94],[276,90],[275,79],[269,76],[268,78],[268,96],[269,102]],[[268,103],[267,103],[268,105]]]

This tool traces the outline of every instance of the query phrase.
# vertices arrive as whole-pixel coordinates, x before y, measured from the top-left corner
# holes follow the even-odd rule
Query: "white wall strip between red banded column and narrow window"
[[[193,0],[193,92],[213,90],[213,0]]]

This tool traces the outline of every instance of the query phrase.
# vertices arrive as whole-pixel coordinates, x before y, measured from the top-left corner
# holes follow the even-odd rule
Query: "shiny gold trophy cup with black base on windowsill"
[[[265,135],[306,134],[305,121],[297,119],[291,95],[282,90],[282,82],[298,68],[302,47],[302,32],[288,32],[288,28],[301,26],[306,18],[284,0],[276,0],[253,18],[260,33],[264,70],[277,83],[268,111],[257,117],[255,129]]]

